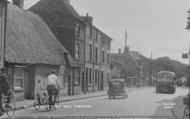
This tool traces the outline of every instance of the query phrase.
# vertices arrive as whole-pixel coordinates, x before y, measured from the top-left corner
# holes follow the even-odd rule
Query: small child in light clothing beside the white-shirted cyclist
[[[37,100],[38,100],[38,104],[41,105],[41,99],[43,98],[43,92],[44,92],[44,89],[42,87],[42,81],[38,81],[38,84],[36,86],[36,97],[37,97]]]

